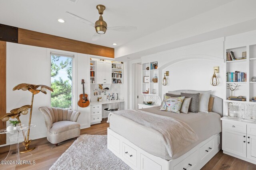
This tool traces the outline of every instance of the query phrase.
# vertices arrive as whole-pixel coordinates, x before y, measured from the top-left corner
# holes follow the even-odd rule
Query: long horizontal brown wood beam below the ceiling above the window
[[[18,28],[18,43],[114,58],[114,48]]]

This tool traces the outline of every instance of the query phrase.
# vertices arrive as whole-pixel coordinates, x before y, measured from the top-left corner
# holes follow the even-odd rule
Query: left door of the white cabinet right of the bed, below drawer
[[[222,150],[246,157],[246,134],[222,129]]]

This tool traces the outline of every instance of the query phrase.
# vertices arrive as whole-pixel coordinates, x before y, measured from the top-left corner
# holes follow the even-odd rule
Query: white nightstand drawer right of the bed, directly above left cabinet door
[[[222,128],[230,131],[246,133],[246,124],[235,121],[222,121]]]

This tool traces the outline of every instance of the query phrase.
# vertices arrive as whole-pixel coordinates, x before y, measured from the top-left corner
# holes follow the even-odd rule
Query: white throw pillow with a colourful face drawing
[[[164,96],[164,101],[160,110],[180,113],[180,107],[182,105],[184,98],[185,97],[174,98],[170,96]]]

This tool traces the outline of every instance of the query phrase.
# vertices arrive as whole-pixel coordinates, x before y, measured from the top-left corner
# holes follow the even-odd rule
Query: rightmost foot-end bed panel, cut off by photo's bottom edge
[[[151,160],[144,154],[140,154],[140,169],[141,170],[162,170],[162,166]]]

